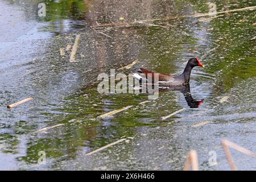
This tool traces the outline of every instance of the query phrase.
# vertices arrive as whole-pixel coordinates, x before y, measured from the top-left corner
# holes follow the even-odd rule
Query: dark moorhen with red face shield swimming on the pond
[[[151,77],[149,80],[152,80],[152,84],[154,84],[154,77],[157,74],[159,81],[156,83],[159,84],[159,86],[186,85],[189,84],[190,74],[193,67],[197,66],[204,68],[204,65],[200,63],[199,59],[197,57],[193,57],[188,60],[184,72],[180,76],[174,77],[167,74],[154,73],[144,68],[139,69],[138,73],[134,73],[133,76],[140,81],[144,80],[146,82],[148,82],[148,78]]]

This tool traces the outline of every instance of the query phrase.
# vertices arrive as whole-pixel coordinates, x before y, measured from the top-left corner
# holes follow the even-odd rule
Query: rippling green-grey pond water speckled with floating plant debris
[[[46,17],[39,17],[38,3],[0,1],[0,169],[181,170],[194,149],[200,170],[229,170],[222,139],[256,152],[255,9],[197,18],[195,11],[208,13],[207,1],[60,0],[47,1]],[[216,5],[227,11],[256,3]],[[135,19],[158,20],[127,23]],[[70,62],[71,51],[61,56],[60,48],[73,46],[79,34],[76,61]],[[193,69],[191,96],[171,89],[139,104],[147,94],[97,92],[99,73],[143,67],[179,75],[195,56],[205,68]],[[27,97],[34,100],[6,108]],[[203,103],[193,108],[189,98]],[[204,121],[209,123],[192,127]],[[34,133],[58,124],[64,125]],[[85,155],[121,138],[126,140]],[[46,164],[38,163],[42,151]],[[238,169],[256,169],[255,158],[230,151]],[[216,164],[209,164],[211,154]]]

